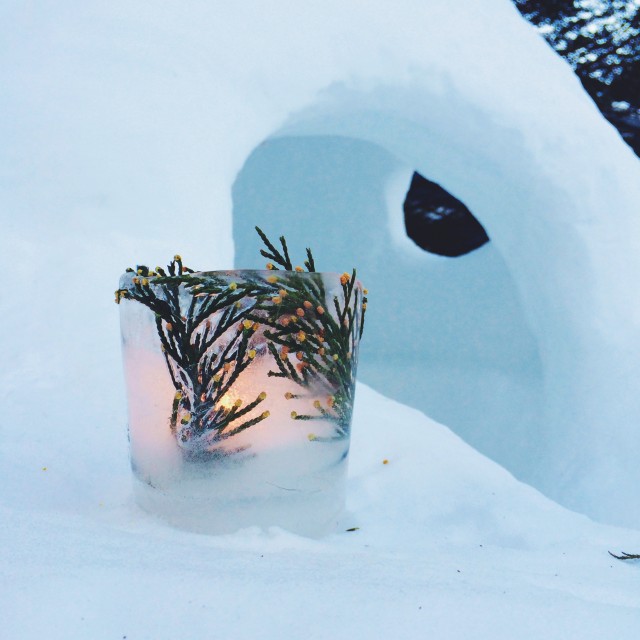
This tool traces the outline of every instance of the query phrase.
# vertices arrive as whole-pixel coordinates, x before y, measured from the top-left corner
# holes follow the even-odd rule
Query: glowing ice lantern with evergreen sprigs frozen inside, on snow
[[[116,292],[138,504],[204,533],[332,531],[366,309],[355,272],[189,271],[176,256]]]

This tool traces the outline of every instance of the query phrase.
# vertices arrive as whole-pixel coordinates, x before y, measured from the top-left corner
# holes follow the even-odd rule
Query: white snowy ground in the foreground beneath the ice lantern
[[[9,482],[33,499],[2,507],[0,637],[638,637],[638,566],[607,554],[638,532],[557,506],[365,386],[352,445],[349,510],[322,540],[179,531],[132,503],[124,452],[88,474],[41,451],[46,471]]]

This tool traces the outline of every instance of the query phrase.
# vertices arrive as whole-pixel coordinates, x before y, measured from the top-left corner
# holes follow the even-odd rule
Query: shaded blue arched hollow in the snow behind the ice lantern
[[[269,138],[233,186],[236,265],[261,266],[257,224],[294,250],[311,246],[320,270],[356,266],[370,290],[359,380],[527,480],[542,368],[516,284],[492,242],[451,258],[408,237],[413,179],[413,166],[370,141]]]

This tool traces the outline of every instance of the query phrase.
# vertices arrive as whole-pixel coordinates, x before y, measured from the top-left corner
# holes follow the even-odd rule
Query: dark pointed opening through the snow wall
[[[414,173],[404,204],[407,235],[421,249],[455,258],[478,249],[489,236],[460,200]]]

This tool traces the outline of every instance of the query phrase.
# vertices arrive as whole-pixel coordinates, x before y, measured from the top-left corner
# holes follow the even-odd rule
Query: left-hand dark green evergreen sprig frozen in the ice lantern
[[[135,300],[154,312],[176,389],[170,428],[188,455],[217,455],[218,443],[269,415],[267,411],[248,415],[266,398],[265,393],[244,408],[221,404],[257,355],[252,342],[258,326],[246,318],[257,289],[255,284],[193,274],[179,255],[166,270],[156,267],[152,271],[144,265],[127,269],[116,302]],[[191,295],[185,296],[187,292]],[[216,322],[208,322],[212,314],[218,314]]]

